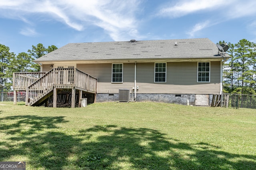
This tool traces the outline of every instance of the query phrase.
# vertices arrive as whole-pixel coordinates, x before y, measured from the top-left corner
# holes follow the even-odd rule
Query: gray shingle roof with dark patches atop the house
[[[177,44],[177,45],[175,45]],[[39,59],[40,61],[109,60],[109,59],[198,59],[222,58],[208,38],[150,41],[69,43]]]

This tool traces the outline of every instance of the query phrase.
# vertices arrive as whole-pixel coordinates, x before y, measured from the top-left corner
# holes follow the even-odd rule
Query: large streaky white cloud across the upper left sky
[[[0,16],[27,22],[38,14],[41,20],[57,20],[78,31],[93,24],[118,41],[123,33],[134,35],[139,4],[138,0],[2,0]]]

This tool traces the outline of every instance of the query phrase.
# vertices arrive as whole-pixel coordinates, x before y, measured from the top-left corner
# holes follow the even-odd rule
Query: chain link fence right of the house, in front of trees
[[[223,94],[222,107],[256,109],[256,95]]]

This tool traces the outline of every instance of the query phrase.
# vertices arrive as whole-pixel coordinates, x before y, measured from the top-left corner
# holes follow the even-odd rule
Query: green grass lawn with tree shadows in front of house
[[[255,170],[256,110],[0,102],[0,161],[27,170]]]

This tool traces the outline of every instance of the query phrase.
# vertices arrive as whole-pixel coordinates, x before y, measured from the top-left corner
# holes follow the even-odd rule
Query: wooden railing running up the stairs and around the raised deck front
[[[52,68],[41,78],[26,88],[26,105],[30,105],[48,94],[53,88],[83,90],[97,92],[97,78],[90,76],[76,68]]]

